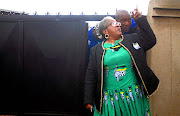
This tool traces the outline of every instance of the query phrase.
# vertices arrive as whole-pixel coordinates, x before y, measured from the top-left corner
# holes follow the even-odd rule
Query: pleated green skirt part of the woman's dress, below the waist
[[[142,85],[104,90],[103,94],[102,114],[94,107],[94,116],[151,116],[149,101]]]

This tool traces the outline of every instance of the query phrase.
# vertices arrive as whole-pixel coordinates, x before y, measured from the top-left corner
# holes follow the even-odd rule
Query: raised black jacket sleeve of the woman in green
[[[156,44],[156,36],[151,29],[146,17],[142,16],[136,20],[138,25],[138,35],[143,45],[144,51],[149,50]]]

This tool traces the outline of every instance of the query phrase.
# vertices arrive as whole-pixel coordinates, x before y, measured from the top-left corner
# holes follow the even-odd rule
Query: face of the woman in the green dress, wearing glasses
[[[109,34],[109,37],[116,39],[122,35],[121,23],[115,19],[109,20],[107,28],[104,30],[104,34]]]

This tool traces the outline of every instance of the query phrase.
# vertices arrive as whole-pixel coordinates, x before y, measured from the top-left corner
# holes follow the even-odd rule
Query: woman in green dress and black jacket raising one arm
[[[148,98],[159,80],[148,67],[145,52],[156,44],[146,17],[133,14],[140,34],[122,35],[112,17],[99,23],[105,38],[91,49],[85,77],[84,103],[94,116],[148,116]],[[138,17],[138,18],[137,18]]]

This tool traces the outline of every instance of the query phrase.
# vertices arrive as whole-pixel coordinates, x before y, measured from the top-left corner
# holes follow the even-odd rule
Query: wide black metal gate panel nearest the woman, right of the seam
[[[77,111],[85,72],[85,23],[24,23],[24,74],[28,104],[45,111]],[[84,36],[82,36],[82,35]],[[33,84],[33,86],[31,86]],[[82,92],[82,91],[81,91]],[[72,105],[70,105],[72,104]],[[30,105],[28,105],[29,107]],[[30,108],[28,108],[30,109]]]

